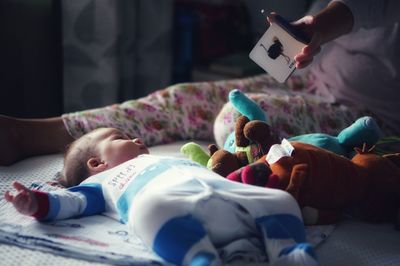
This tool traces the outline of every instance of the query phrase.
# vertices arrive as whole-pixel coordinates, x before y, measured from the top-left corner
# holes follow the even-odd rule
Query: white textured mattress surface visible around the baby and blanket
[[[203,146],[207,144],[199,143]],[[175,142],[155,146],[150,148],[150,152],[183,157],[179,152],[183,144],[184,142]],[[61,168],[61,154],[37,156],[10,167],[0,167],[0,193],[4,195],[5,191],[11,189],[14,180],[19,180],[26,185],[50,180]],[[374,225],[349,218],[336,225],[333,232],[329,234],[326,234],[326,230],[313,232],[318,234],[317,237],[326,238],[316,248],[321,265],[400,265],[400,231],[396,231],[393,225]],[[21,245],[9,242],[1,243],[0,264],[16,265],[24,261],[24,265],[104,265],[79,259],[76,256],[71,258],[65,257],[65,254],[59,256],[56,255],[57,252],[45,251],[22,248]],[[143,261],[140,264],[143,264]]]

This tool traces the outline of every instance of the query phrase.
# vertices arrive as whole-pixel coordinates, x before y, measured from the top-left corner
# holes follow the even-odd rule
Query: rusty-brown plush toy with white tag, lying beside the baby
[[[366,145],[355,150],[350,160],[306,143],[275,144],[268,155],[227,178],[289,192],[307,224],[335,223],[348,208],[370,222],[395,221],[400,153],[379,156]]]

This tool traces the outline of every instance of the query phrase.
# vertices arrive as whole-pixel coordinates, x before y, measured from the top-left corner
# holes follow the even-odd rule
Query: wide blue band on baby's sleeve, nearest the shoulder
[[[103,190],[100,184],[84,184],[68,189],[72,192],[82,193],[86,198],[86,208],[81,213],[82,216],[99,214],[105,211],[105,200]]]

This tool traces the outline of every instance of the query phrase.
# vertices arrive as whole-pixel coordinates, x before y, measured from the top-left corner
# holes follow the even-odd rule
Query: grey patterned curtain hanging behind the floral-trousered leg
[[[172,0],[62,0],[64,112],[170,83]]]

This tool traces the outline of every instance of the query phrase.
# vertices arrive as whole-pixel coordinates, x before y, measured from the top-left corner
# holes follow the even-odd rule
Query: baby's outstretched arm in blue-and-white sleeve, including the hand
[[[100,186],[81,185],[68,190],[41,192],[14,182],[16,195],[9,191],[5,199],[22,214],[38,220],[59,220],[104,212],[105,202]]]

